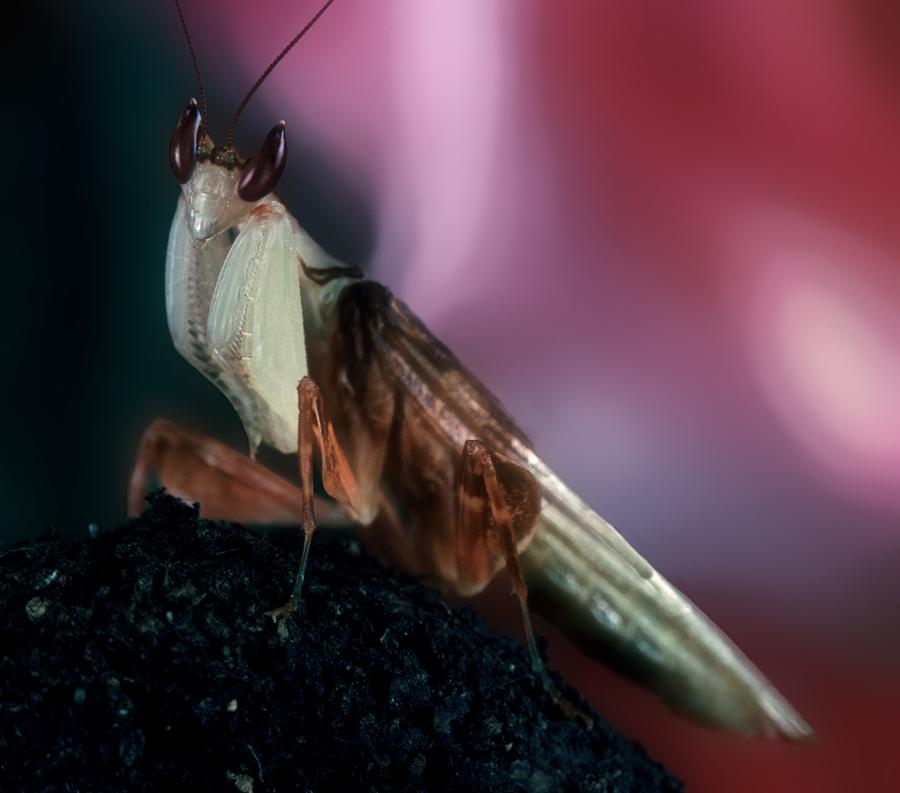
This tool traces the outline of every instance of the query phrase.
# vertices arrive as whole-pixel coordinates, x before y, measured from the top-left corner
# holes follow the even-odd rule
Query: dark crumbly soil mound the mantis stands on
[[[0,555],[0,789],[681,790],[596,715],[565,719],[524,648],[356,541],[316,536],[276,626],[302,533],[151,502]]]

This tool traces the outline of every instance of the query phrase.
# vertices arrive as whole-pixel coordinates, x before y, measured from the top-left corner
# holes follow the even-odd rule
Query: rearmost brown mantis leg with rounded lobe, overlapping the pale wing
[[[540,511],[538,484],[528,471],[481,441],[466,441],[463,447],[459,489],[458,560],[460,575],[476,582],[489,580],[496,570],[497,550],[502,554],[519,601],[528,653],[535,674],[556,705],[572,718],[577,716],[590,728],[592,720],[570,703],[550,679],[537,649],[528,588],[519,564],[519,547],[534,533]]]

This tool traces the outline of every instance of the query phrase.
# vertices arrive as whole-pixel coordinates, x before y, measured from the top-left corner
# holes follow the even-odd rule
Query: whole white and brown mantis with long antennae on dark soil
[[[228,397],[250,455],[157,420],[129,492],[150,471],[210,517],[302,523],[288,602],[302,593],[318,516],[349,519],[382,558],[445,590],[481,591],[506,568],[532,657],[532,605],[592,656],[675,710],[719,729],[804,740],[812,731],[747,658],[534,451],[499,401],[388,289],[323,251],[272,193],[287,157],[284,122],[242,159],[234,127],[247,102],[322,16],[328,0],[244,98],[224,146],[200,86],[170,144],[182,194],[166,255],[176,349]],[[300,487],[255,460],[296,454]],[[328,503],[315,496],[318,451]],[[526,584],[527,582],[527,584]]]

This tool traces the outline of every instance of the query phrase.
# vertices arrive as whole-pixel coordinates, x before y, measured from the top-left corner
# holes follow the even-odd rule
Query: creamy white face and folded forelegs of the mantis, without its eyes
[[[166,254],[169,331],[234,405],[251,455],[261,443],[295,452],[307,374],[299,257],[313,269],[333,260],[274,197],[237,198],[236,173],[200,163],[184,185]]]

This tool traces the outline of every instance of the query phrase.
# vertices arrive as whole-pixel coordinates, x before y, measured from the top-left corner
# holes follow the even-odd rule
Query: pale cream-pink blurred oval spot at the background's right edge
[[[835,485],[900,505],[900,283],[890,263],[790,215],[738,244],[755,254],[744,313],[755,372],[785,428]]]

